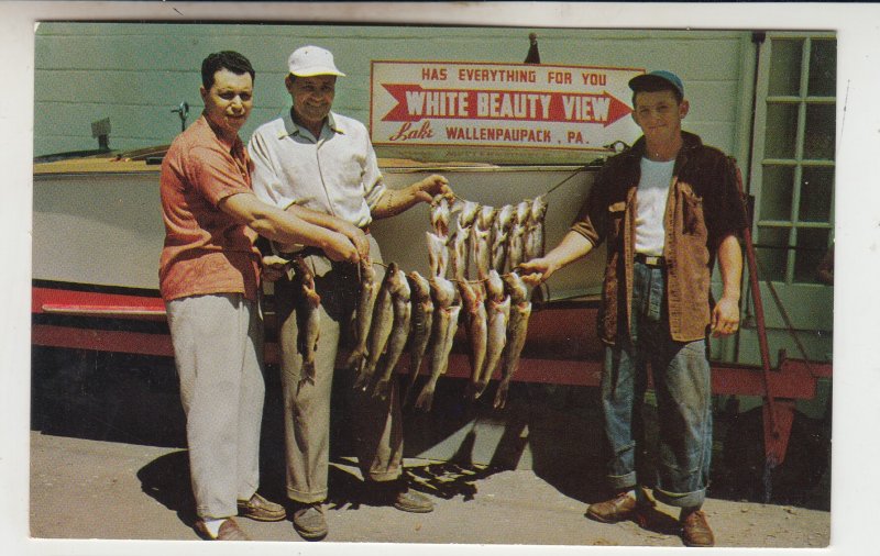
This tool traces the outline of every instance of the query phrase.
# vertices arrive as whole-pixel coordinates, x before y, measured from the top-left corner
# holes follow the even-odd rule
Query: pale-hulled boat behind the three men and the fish
[[[158,293],[158,258],[165,236],[158,175],[166,149],[167,145],[162,145],[36,160],[34,345],[172,355],[165,308]],[[493,207],[548,193],[548,245],[568,231],[596,170],[595,164],[438,165],[387,158],[380,165],[389,188],[403,188],[431,174],[442,174],[459,198]],[[371,230],[386,263],[393,260],[407,271],[428,274],[427,204],[376,221]],[[594,309],[603,264],[604,256],[594,256],[558,273],[542,291],[544,305]],[[277,346],[271,283],[264,293],[268,300],[266,356],[272,362]],[[596,344],[593,340],[591,343]]]

